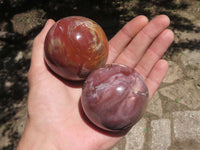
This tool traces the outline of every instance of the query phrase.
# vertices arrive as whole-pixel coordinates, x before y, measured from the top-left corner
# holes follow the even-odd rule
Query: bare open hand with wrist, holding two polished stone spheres
[[[52,74],[44,63],[44,39],[55,22],[47,21],[34,39],[28,72],[28,117],[18,150],[106,150],[124,136],[95,130],[80,115],[82,83],[70,83]],[[165,15],[150,22],[138,16],[128,22],[110,41],[107,63],[135,68],[145,79],[150,99],[168,70],[162,60],[174,35]]]

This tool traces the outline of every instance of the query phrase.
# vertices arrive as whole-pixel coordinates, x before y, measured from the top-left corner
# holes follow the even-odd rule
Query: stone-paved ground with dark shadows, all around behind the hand
[[[0,149],[14,149],[23,132],[31,45],[47,18],[86,16],[111,38],[134,16],[163,13],[175,33],[164,56],[169,73],[145,116],[113,150],[200,149],[199,0],[0,0],[0,10]]]

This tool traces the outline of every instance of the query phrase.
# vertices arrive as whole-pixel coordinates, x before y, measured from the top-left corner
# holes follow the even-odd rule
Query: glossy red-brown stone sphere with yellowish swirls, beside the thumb
[[[53,25],[44,49],[45,61],[53,72],[67,80],[84,80],[91,71],[105,65],[108,40],[94,21],[71,16]]]

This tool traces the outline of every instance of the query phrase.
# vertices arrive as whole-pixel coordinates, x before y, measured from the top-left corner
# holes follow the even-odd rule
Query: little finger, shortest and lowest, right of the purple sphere
[[[146,84],[149,89],[149,98],[151,99],[160,86],[160,83],[164,79],[168,70],[168,62],[165,60],[159,60],[151,72],[149,73],[148,77],[146,78]]]

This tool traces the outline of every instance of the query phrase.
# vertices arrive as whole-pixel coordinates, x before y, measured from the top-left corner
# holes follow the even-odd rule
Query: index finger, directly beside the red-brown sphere
[[[138,16],[128,22],[110,41],[108,63],[113,62],[133,37],[148,23],[145,16]]]

